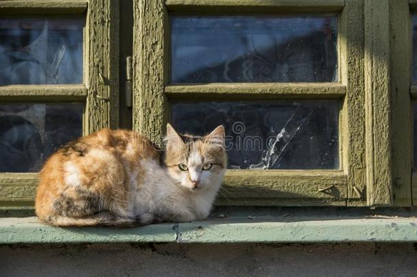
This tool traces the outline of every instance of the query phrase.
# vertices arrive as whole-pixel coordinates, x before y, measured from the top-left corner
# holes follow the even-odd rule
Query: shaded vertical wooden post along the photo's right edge
[[[412,83],[412,16],[417,14],[417,0],[384,1],[383,5],[385,18],[375,14],[373,19],[386,26],[389,23],[389,37],[380,41],[386,48],[379,49],[375,55],[382,57],[383,68],[386,70],[378,68],[379,72],[375,76],[387,80],[384,90],[389,91],[386,93],[386,101],[390,101],[387,109],[390,116],[389,129],[381,127],[381,130],[388,131],[392,139],[389,142],[392,150],[392,204],[396,207],[416,206],[417,172],[413,167],[416,161],[413,161],[415,146],[412,104],[417,100],[417,85]]]

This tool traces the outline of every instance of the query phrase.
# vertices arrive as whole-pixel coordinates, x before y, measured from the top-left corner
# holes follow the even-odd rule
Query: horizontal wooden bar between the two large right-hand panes
[[[168,85],[169,98],[342,98],[346,86],[340,83],[210,83]]]

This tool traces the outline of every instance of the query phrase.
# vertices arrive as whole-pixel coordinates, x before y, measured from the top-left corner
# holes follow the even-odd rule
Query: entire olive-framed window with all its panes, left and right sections
[[[44,159],[119,116],[157,144],[224,124],[218,205],[417,202],[416,0],[132,2],[0,1],[0,207],[30,207]]]

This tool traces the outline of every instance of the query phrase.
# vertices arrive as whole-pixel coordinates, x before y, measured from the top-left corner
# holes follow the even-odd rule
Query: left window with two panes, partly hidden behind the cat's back
[[[59,146],[118,122],[118,3],[1,1],[0,208],[31,207]]]

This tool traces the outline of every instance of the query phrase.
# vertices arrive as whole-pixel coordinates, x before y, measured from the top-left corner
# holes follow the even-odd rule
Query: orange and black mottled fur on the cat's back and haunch
[[[126,216],[129,171],[146,159],[159,161],[159,153],[148,139],[133,131],[103,129],[81,137],[46,161],[40,172],[36,214],[43,221],[64,214],[83,217],[83,207],[70,207],[71,202],[85,205],[90,209],[85,213],[91,213],[95,208],[87,202],[96,197],[94,212],[109,210]]]

